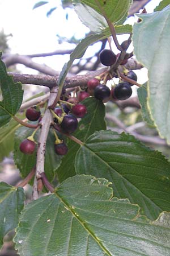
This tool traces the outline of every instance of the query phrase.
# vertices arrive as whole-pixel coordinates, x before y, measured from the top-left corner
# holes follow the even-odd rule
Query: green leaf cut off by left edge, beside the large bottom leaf
[[[5,182],[0,183],[0,249],[3,237],[19,222],[19,214],[24,207],[23,188],[12,187]]]

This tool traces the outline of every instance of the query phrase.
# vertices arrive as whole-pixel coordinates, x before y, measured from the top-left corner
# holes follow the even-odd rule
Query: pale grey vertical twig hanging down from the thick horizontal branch
[[[54,87],[51,90],[48,106],[50,106],[53,103],[54,99],[56,98],[57,90],[58,90],[57,87]],[[48,137],[48,133],[49,133],[49,129],[52,121],[53,121],[52,114],[50,113],[50,110],[46,108],[44,117],[42,118],[42,121],[41,121],[41,132],[40,132],[39,144],[37,148],[36,175],[33,183],[33,193],[32,193],[32,197],[34,200],[39,198],[39,192],[37,190],[37,179],[40,179],[42,173],[44,172],[46,139]]]

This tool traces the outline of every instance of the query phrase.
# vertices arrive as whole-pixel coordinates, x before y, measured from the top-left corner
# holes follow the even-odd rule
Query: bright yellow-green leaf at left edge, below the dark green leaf
[[[20,127],[19,123],[16,122],[14,119],[0,128],[0,162],[3,160],[5,156],[8,156],[10,152],[14,148],[14,133],[16,129]]]

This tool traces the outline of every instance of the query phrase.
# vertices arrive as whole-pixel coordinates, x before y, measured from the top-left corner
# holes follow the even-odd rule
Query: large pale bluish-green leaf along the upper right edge
[[[170,143],[170,6],[139,17],[142,22],[134,25],[134,53],[148,69],[148,108],[161,137]]]

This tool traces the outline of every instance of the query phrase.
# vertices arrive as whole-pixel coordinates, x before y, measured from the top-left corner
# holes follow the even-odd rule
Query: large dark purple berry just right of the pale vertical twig
[[[65,115],[60,126],[64,133],[73,133],[78,127],[78,121],[74,115]]]

